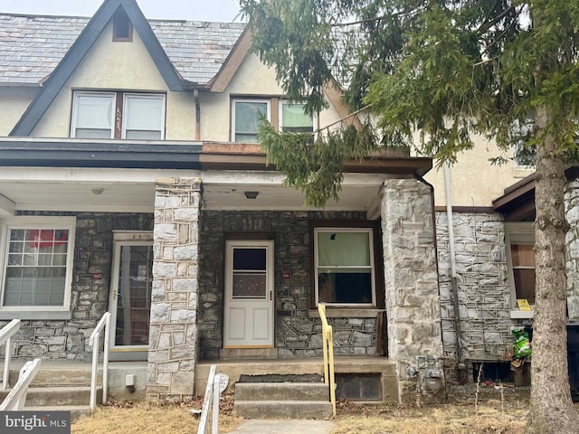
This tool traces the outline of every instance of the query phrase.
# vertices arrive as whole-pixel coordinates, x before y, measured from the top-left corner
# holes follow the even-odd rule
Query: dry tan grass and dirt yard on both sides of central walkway
[[[415,402],[362,404],[337,402],[332,434],[520,434],[527,423],[528,388],[491,384],[454,387],[447,402],[429,405]],[[100,407],[92,416],[72,424],[72,434],[191,434],[198,420],[189,412],[203,402],[117,402]],[[233,395],[221,403],[220,432],[230,432],[242,419],[233,410]]]

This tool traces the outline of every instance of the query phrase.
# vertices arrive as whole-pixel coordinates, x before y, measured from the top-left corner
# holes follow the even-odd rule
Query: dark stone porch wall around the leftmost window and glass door
[[[71,320],[24,320],[13,337],[15,358],[90,361],[89,337],[109,308],[112,239],[115,230],[152,231],[153,214],[21,212],[19,215],[76,216]],[[93,278],[101,274],[102,278]],[[0,321],[0,327],[8,321]],[[4,345],[3,345],[4,348]]]

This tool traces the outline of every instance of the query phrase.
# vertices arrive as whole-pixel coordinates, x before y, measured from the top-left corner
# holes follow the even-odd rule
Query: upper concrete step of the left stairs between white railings
[[[0,391],[0,401],[4,401],[10,391]],[[102,402],[102,388],[97,388],[97,402]],[[89,405],[90,387],[54,386],[29,387],[24,402],[24,410],[29,407]]]

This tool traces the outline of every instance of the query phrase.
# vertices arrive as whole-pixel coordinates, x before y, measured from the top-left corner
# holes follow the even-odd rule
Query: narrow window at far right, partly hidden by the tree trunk
[[[535,231],[532,222],[505,223],[512,308],[517,300],[535,305]],[[530,314],[529,314],[530,315]]]

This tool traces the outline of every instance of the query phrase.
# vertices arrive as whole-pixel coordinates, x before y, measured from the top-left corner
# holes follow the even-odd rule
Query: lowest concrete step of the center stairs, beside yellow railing
[[[328,419],[332,404],[322,401],[237,401],[235,411],[245,419]]]

